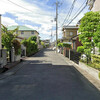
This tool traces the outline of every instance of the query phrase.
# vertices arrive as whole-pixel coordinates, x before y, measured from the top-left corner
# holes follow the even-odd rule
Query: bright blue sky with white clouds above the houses
[[[61,38],[62,24],[74,0],[58,1],[58,37]],[[85,5],[85,1],[76,0],[72,14],[64,25],[67,25],[80,7]],[[86,7],[70,25],[76,25],[88,11],[88,7]],[[55,39],[56,0],[0,0],[0,14],[2,15],[1,22],[5,26],[25,25],[37,30],[41,40],[50,39],[51,33],[52,39]]]

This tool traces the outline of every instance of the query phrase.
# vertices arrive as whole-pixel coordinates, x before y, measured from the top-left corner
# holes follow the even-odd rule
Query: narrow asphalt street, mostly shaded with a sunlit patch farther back
[[[0,100],[100,100],[100,92],[50,49],[0,80]]]

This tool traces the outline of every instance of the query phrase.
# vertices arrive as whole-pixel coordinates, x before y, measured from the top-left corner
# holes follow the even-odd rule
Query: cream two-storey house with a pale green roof
[[[17,27],[18,27],[18,31],[16,31],[15,34],[18,34],[18,38],[20,41],[24,38],[28,39],[31,36],[36,36],[37,43],[39,43],[39,33],[32,28],[29,28],[27,26],[9,26],[7,28],[10,31],[16,29]]]

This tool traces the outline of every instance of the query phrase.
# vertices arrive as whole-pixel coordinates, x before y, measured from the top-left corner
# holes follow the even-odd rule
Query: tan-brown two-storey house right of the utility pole
[[[63,26],[63,42],[69,42],[70,39],[77,35],[77,26]]]

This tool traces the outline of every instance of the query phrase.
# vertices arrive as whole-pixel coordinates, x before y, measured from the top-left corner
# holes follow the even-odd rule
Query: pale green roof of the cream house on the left
[[[19,28],[18,30],[19,31],[36,31],[36,30],[34,30],[34,29],[32,29],[32,28],[29,28],[29,27],[27,27],[27,26],[8,26],[7,28],[8,28],[8,30],[14,30],[14,29],[16,29],[16,28]]]

